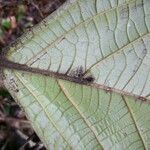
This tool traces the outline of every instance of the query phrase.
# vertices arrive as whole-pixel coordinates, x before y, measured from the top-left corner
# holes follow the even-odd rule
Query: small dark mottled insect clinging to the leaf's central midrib
[[[80,83],[93,83],[95,80],[92,74],[85,75],[85,71],[82,66],[72,70],[69,75],[76,78]]]

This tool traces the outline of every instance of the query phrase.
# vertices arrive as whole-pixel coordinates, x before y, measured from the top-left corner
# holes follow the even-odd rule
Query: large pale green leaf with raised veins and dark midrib
[[[150,149],[149,7],[68,0],[10,47],[9,60],[41,70],[4,75],[48,149]],[[81,66],[94,83],[67,81]]]

